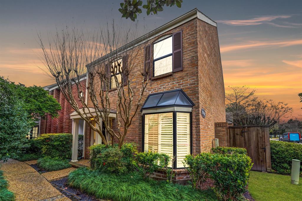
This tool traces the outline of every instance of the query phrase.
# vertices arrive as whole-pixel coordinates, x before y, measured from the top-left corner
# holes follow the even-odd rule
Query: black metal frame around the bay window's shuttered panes
[[[173,113],[173,157],[176,157],[176,160],[173,164],[173,169],[184,169],[184,168],[177,168],[177,133],[176,133],[176,113],[190,113],[190,154],[193,153],[193,140],[192,140],[192,112],[184,112],[184,111],[170,111],[170,112],[155,112],[155,113],[147,113],[147,114],[162,114],[162,113]],[[145,152],[145,115],[143,114],[143,126],[142,126],[142,152]]]

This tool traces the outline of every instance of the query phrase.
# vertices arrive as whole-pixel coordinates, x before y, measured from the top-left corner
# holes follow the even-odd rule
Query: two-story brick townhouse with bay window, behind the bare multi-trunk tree
[[[154,37],[149,38],[149,45],[139,55],[141,66],[138,68],[151,62],[152,74],[144,93],[144,104],[135,116],[125,141],[138,143],[140,151],[151,150],[176,156],[175,164],[170,165],[178,169],[176,180],[182,180],[187,175],[181,170],[185,155],[210,152],[215,138],[219,139],[220,145],[228,146],[217,24],[195,8],[150,33]],[[138,38],[133,48],[140,47],[140,42]],[[157,46],[163,48],[158,49]],[[131,86],[140,85],[139,71],[129,76]],[[83,84],[85,79],[83,75]],[[108,93],[114,100],[117,90],[111,87]],[[82,123],[76,112],[72,112],[56,85],[47,86],[47,89],[59,100],[63,109],[59,119],[47,118],[43,128],[41,122],[41,130],[72,132],[74,139],[83,130],[83,156],[89,158],[88,147],[101,143],[100,137],[85,126],[85,122]],[[90,100],[86,98],[86,101],[89,107],[93,107]],[[112,108],[113,129],[117,129],[115,117]],[[103,133],[106,134],[105,129]],[[75,162],[76,147],[77,142],[73,140],[72,161]]]

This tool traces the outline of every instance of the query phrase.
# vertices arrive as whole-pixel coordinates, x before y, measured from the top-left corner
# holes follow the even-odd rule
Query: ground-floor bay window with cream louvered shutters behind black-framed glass
[[[184,158],[191,154],[191,113],[165,112],[144,114],[144,151],[165,153],[173,158],[169,166],[184,168]]]

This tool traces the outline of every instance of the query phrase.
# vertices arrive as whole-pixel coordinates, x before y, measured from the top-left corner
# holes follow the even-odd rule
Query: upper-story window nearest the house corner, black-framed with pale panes
[[[172,36],[153,44],[153,76],[172,72]]]

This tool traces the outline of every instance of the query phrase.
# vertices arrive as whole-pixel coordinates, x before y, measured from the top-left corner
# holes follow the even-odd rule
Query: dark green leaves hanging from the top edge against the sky
[[[120,3],[120,7],[118,10],[122,14],[122,18],[130,18],[132,21],[135,21],[137,15],[142,13],[142,9],[140,8],[143,4],[141,0],[124,0],[124,3]],[[147,4],[143,5],[143,8],[146,9],[147,15],[157,14],[157,12],[161,12],[164,10],[164,6],[172,7],[175,5],[178,8],[182,7],[182,0],[147,0]]]

